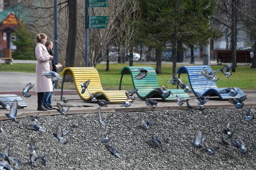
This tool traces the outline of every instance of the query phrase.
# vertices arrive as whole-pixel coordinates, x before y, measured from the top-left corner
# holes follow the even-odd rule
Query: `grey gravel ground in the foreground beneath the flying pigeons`
[[[252,109],[256,114],[256,109]],[[256,169],[256,128],[255,120],[247,122],[241,109],[207,109],[203,112],[188,110],[163,110],[147,112],[102,113],[105,123],[111,127],[110,142],[120,153],[118,159],[107,151],[101,140],[105,127],[98,122],[96,113],[65,116],[40,116],[39,122],[47,132],[34,132],[25,128],[32,121],[25,118],[16,124],[10,120],[0,121],[6,134],[0,134],[0,151],[11,145],[10,157],[29,160],[29,144],[33,137],[37,153],[47,153],[48,161],[43,166],[37,160],[37,167],[22,165],[24,170],[255,170]],[[144,130],[141,120],[151,120],[156,125]],[[72,128],[79,122],[78,128]],[[247,154],[231,145],[219,143],[222,128],[230,122],[234,137],[240,136],[248,148]],[[67,144],[57,142],[53,132],[57,125],[64,130],[72,128],[65,138]],[[207,136],[205,145],[220,146],[214,155],[193,147],[198,129]],[[158,134],[165,140],[171,136],[171,143],[160,147],[151,145],[151,134]],[[223,135],[224,136],[224,135]]]

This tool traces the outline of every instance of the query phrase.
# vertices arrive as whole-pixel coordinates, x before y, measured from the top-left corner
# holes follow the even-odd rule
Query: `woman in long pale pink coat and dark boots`
[[[43,106],[44,92],[53,91],[53,82],[51,79],[42,76],[42,72],[51,71],[49,61],[53,59],[53,56],[49,55],[45,43],[47,41],[47,35],[40,33],[35,37],[37,44],[35,47],[36,63],[36,93],[37,93],[37,110],[47,111],[48,109]]]

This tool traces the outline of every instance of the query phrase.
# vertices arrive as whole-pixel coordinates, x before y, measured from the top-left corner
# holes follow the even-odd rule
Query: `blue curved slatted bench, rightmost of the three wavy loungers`
[[[201,95],[209,96],[218,96],[221,100],[223,99],[237,99],[243,96],[245,93],[240,88],[237,88],[238,94],[232,97],[228,93],[220,94],[224,88],[217,88],[216,82],[212,82],[202,75],[203,68],[207,71],[212,71],[208,65],[199,65],[199,66],[181,66],[177,70],[178,78],[182,73],[187,73],[189,78],[189,84],[193,93],[197,92]],[[220,80],[219,80],[220,81]],[[177,88],[179,86],[177,85]]]

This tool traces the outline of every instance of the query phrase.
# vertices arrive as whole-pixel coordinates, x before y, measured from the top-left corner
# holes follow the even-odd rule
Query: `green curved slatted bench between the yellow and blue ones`
[[[144,68],[148,69],[151,74],[147,74],[141,80],[135,78],[140,71],[135,71],[135,69]],[[154,91],[155,88],[160,88],[156,76],[155,69],[153,67],[123,67],[120,71],[121,78],[119,83],[119,90],[121,90],[121,83],[124,74],[130,74],[132,77],[133,87],[134,89],[138,89],[136,94],[140,99],[146,98],[162,98],[164,101],[175,101],[175,95],[183,98],[189,98],[189,95],[185,93],[182,89],[168,89],[173,95],[170,95],[168,98],[164,98],[161,93]]]

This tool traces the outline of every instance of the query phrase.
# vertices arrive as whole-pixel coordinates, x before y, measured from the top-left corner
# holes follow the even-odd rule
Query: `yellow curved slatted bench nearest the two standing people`
[[[77,90],[77,93],[83,101],[91,100],[91,96],[89,95],[88,91],[94,94],[102,93],[99,99],[105,99],[110,103],[122,103],[127,100],[127,96],[125,95],[124,90],[104,91],[101,86],[99,73],[97,69],[95,69],[94,67],[67,67],[63,69],[61,75],[63,76],[63,80],[61,83],[61,100],[65,76],[73,76],[74,85]],[[85,93],[81,94],[82,88],[80,83],[84,83],[87,80],[90,80],[90,84],[88,85],[88,88],[86,89]]]

